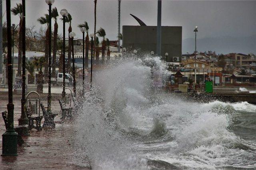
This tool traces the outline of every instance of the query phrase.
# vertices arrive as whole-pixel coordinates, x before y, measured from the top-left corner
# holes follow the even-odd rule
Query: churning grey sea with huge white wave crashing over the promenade
[[[256,168],[255,105],[193,103],[167,94],[152,86],[152,72],[164,73],[164,63],[143,56],[108,65],[78,101],[75,164],[88,166],[89,159],[96,169]]]

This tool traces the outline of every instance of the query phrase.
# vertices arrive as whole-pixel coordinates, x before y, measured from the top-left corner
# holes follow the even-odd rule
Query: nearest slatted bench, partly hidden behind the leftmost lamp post
[[[7,111],[2,112],[2,117],[4,119],[4,124],[5,124],[5,128],[6,130],[8,129],[8,114]],[[18,145],[21,145],[22,143],[24,143],[23,139],[22,139],[22,132],[26,131],[26,129],[28,129],[28,125],[19,125],[17,127],[14,127],[14,130],[18,133]]]

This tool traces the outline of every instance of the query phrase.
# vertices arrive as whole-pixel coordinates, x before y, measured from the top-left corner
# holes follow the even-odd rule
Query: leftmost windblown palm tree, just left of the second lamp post
[[[22,4],[16,4],[16,7],[11,9],[14,16],[19,16],[19,46],[18,46],[18,75],[21,76],[21,66],[22,66]]]

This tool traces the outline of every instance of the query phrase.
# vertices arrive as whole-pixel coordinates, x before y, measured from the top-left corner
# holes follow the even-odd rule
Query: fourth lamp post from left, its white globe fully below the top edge
[[[63,17],[63,49],[62,49],[62,57],[63,57],[63,90],[62,90],[62,99],[65,99],[65,57],[66,57],[66,49],[65,49],[65,19],[68,16],[68,11],[66,9],[60,10],[60,15]]]

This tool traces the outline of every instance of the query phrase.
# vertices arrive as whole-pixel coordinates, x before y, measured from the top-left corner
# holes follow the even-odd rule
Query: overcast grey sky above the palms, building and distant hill
[[[11,0],[11,6],[21,3]],[[3,14],[6,11],[3,0]],[[55,0],[53,7],[66,8],[72,15],[72,28],[78,38],[82,33],[77,25],[87,21],[89,32],[94,28],[93,0]],[[26,25],[40,28],[37,18],[47,13],[45,0],[26,0]],[[139,25],[129,14],[134,14],[146,25],[157,25],[157,0],[122,0],[122,25]],[[4,21],[6,15],[4,14]],[[12,16],[12,23],[18,24],[18,16]],[[103,27],[106,37],[115,40],[118,31],[118,0],[98,0],[96,29]],[[53,22],[53,21],[52,21]],[[62,21],[58,20],[59,34],[62,34]],[[66,24],[68,28],[68,24]],[[198,25],[198,38],[205,37],[245,37],[256,34],[256,1],[194,1],[163,0],[162,25],[182,26],[182,39],[194,37],[194,26]],[[68,34],[66,34],[67,36]]]

